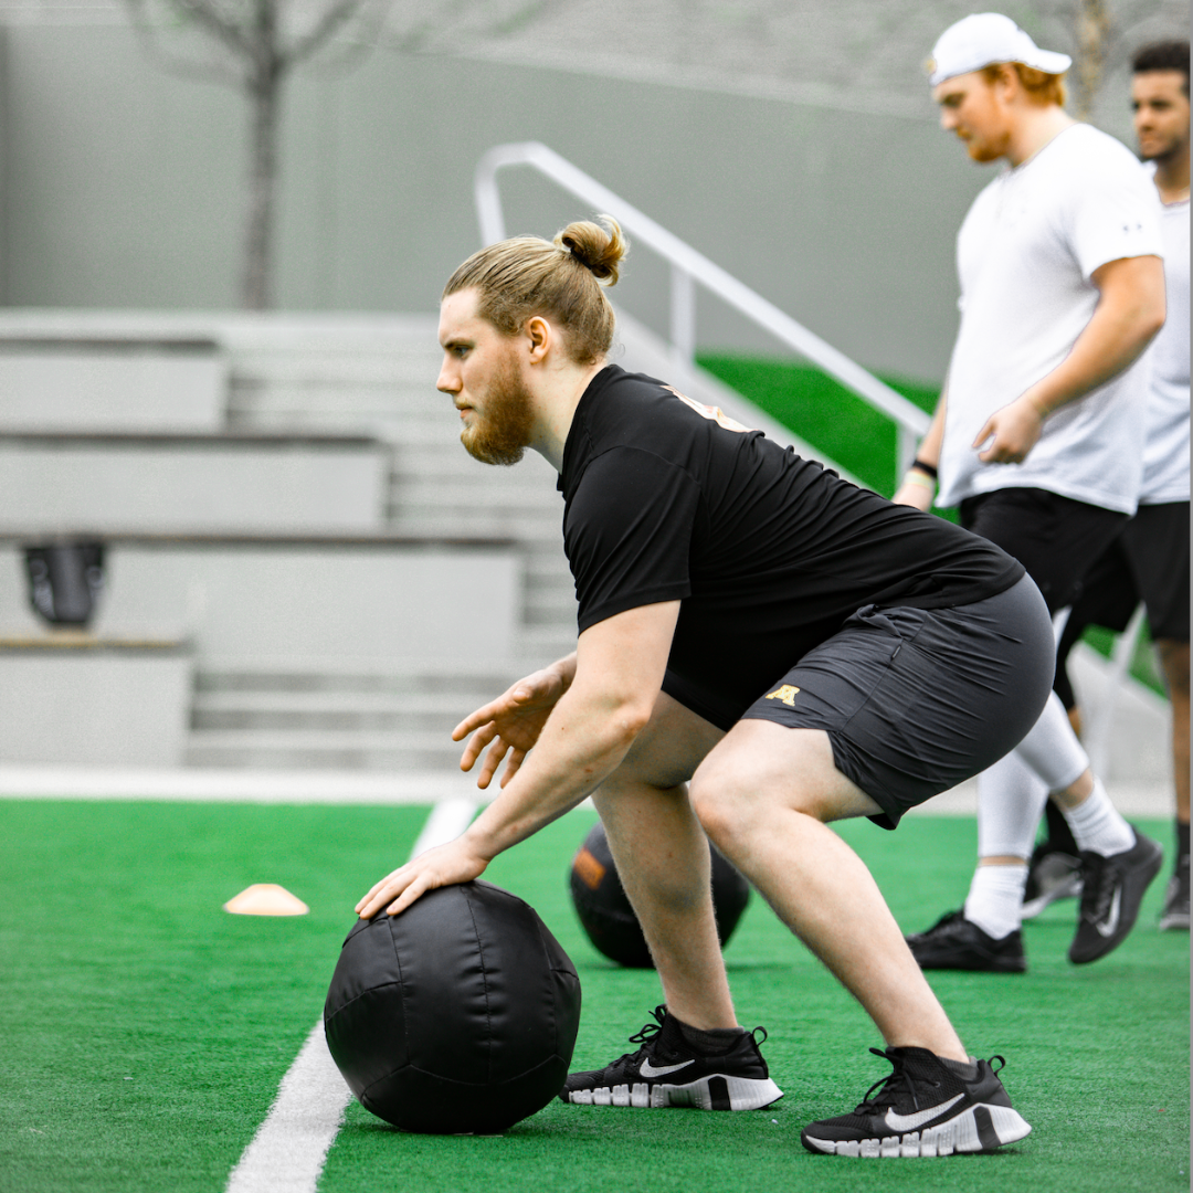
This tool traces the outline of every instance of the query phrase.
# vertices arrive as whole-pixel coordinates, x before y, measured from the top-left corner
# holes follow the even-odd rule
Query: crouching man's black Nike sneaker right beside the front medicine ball
[[[771,1080],[755,1033],[742,1032],[728,1052],[701,1056],[684,1038],[679,1020],[656,1007],[655,1022],[647,1024],[628,1052],[612,1064],[592,1073],[573,1073],[560,1100],[573,1106],[639,1106],[661,1109],[687,1106],[699,1111],[756,1111],[783,1096]]]

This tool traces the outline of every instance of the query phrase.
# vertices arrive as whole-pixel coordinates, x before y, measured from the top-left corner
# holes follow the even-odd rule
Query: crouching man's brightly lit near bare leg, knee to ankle
[[[692,799],[717,847],[888,1044],[969,1059],[870,871],[827,827],[882,811],[833,765],[827,734],[742,721],[697,771]]]

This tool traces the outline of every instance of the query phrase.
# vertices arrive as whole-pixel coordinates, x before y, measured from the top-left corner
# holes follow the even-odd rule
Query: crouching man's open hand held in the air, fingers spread
[[[567,692],[574,675],[575,656],[571,656],[518,680],[495,700],[465,717],[451,735],[457,742],[472,735],[460,755],[459,768],[471,771],[488,747],[476,778],[476,785],[483,790],[496,774],[501,760],[508,755],[501,774],[503,787],[518,773],[523,759],[538,741],[546,718]]]

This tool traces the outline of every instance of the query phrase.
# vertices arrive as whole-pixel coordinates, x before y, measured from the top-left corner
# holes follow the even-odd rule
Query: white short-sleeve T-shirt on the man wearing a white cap
[[[983,464],[985,420],[1069,354],[1107,261],[1162,255],[1160,198],[1119,141],[1074,124],[975,199],[957,237],[962,323],[948,370],[941,505],[1039,488],[1133,513],[1143,472],[1149,353],[1062,407],[1022,464]]]

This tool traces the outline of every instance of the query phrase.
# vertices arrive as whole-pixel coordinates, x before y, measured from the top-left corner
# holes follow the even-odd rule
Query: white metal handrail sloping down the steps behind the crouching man
[[[910,465],[916,441],[931,422],[923,410],[545,144],[524,141],[495,146],[477,162],[476,214],[486,245],[505,240],[497,171],[507,166],[531,166],[593,209],[613,216],[636,243],[647,245],[670,264],[670,348],[679,367],[688,369],[696,359],[696,284],[699,283],[892,419],[898,433],[896,475]]]

